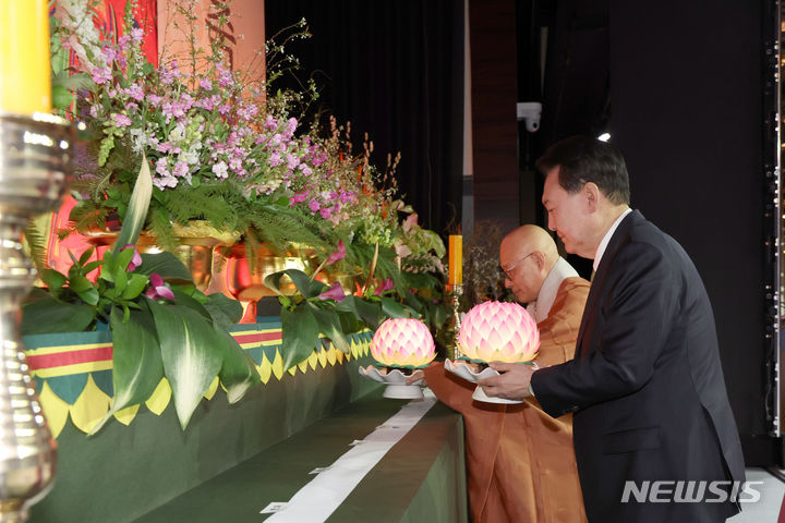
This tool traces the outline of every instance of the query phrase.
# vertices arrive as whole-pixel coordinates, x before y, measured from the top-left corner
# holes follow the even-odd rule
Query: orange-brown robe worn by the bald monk
[[[547,318],[538,324],[540,366],[572,358],[588,295],[588,281],[561,282]],[[446,372],[440,363],[427,367],[425,377],[439,400],[463,414],[474,523],[587,521],[571,414],[554,419],[536,400],[517,405],[474,401],[475,386]]]

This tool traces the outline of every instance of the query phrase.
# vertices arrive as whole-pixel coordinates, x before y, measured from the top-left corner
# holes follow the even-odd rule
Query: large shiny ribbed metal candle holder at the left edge
[[[0,114],[0,523],[27,520],[51,488],[57,443],[20,336],[36,271],[22,250],[28,219],[55,210],[70,179],[74,127],[57,117]]]

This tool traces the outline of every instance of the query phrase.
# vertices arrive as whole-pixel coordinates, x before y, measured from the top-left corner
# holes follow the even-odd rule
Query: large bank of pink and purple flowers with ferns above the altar
[[[58,107],[87,124],[73,184],[80,197],[71,215],[75,230],[126,230],[131,222],[149,231],[164,250],[172,250],[178,228],[201,219],[217,231],[242,235],[251,254],[261,242],[279,252],[307,245],[315,255],[304,271],[289,269],[266,280],[274,290],[280,290],[283,278],[298,289],[294,296],[280,295],[286,366],[307,357],[319,332],[348,350],[346,333],[376,329],[387,317],[421,317],[432,329],[439,328],[447,317],[442,304],[444,243],[421,228],[413,209],[397,197],[397,160],[388,158],[386,169],[376,169],[370,161],[373,144],[366,137],[355,155],[349,124],[339,126],[335,119],[325,133],[317,125],[304,130],[297,105],[315,96],[313,85],[305,94],[273,95],[269,81],[259,84],[229,70],[215,42],[209,50],[192,46],[189,60],[164,57],[154,66],[142,52],[141,29],[131,28],[133,2],[125,11],[130,31],[116,40],[101,39],[86,14],[92,1],[58,2],[60,23],[52,32],[56,86],[62,95]],[[303,36],[304,27],[303,21],[286,38]],[[77,57],[75,65],[63,59],[65,51]],[[291,61],[270,59],[282,51],[275,42],[267,51],[271,81]],[[150,195],[142,206],[134,191],[145,171]],[[126,243],[133,242],[122,245]],[[337,258],[336,245],[341,253]],[[117,307],[128,306],[131,313],[122,317],[133,318],[137,307],[156,311],[145,300],[169,297],[165,279],[148,275],[142,280],[133,276],[140,269],[114,259],[104,258],[92,289],[81,278],[72,282],[70,275],[48,272],[52,300],[78,302],[85,318],[84,305],[93,307],[85,328],[108,320],[112,330],[121,330],[118,313],[112,313]],[[314,268],[321,260],[325,263]],[[74,267],[81,277],[92,266],[75,260]],[[355,292],[346,295],[340,287],[319,281],[329,281],[336,268],[358,275]],[[132,275],[126,279],[134,281],[134,292],[142,285],[153,297],[142,290],[122,297],[128,285],[120,291],[114,287],[124,281],[120,269]],[[114,272],[117,280],[106,279]],[[93,304],[80,292],[101,297]],[[184,291],[178,292],[180,302]],[[112,301],[112,293],[128,303]],[[193,292],[190,297],[213,300]],[[234,367],[240,368],[238,362]],[[183,404],[181,422],[189,409]]]

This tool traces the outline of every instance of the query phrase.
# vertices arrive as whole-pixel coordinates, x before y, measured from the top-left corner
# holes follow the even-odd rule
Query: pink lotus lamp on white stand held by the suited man
[[[458,345],[463,360],[445,362],[445,368],[463,379],[475,382],[498,375],[493,368],[475,370],[471,364],[490,362],[527,363],[536,357],[540,349],[540,330],[536,321],[517,303],[484,302],[473,306],[461,321]],[[481,365],[482,366],[482,365]],[[478,401],[491,403],[520,403],[515,400],[492,398],[478,387],[472,394]]]

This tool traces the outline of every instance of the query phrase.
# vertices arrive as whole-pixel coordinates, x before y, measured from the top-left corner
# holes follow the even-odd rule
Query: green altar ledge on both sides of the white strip
[[[341,409],[135,523],[262,522],[268,503],[288,501],[316,467],[331,464],[406,401],[378,393]],[[387,452],[327,522],[460,523],[468,521],[463,425],[442,403]]]

